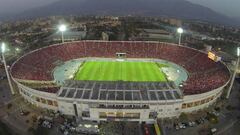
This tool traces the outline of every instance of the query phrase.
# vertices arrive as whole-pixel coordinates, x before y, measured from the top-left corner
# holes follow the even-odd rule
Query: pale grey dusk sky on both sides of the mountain
[[[1,13],[16,13],[30,8],[44,6],[58,0],[0,0]],[[230,17],[240,18],[240,0],[187,0],[209,7]]]

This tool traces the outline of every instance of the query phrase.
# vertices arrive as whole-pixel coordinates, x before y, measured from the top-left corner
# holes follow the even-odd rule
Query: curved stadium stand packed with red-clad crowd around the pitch
[[[218,88],[230,76],[222,63],[210,60],[206,53],[170,43],[138,41],[82,41],[52,45],[21,57],[11,67],[11,74],[19,80],[53,81],[52,71],[57,61],[65,62],[82,57],[115,58],[119,52],[126,53],[128,58],[164,59],[184,67],[189,73],[182,88],[186,95]],[[208,72],[213,69],[216,70]],[[50,89],[50,92],[56,92],[55,88]]]

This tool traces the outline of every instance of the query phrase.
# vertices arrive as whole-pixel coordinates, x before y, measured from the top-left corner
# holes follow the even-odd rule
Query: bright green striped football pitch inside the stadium
[[[166,81],[154,62],[87,61],[77,71],[75,80],[95,81]]]

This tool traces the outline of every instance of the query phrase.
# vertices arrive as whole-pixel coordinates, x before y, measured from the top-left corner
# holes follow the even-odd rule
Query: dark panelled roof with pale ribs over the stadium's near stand
[[[159,101],[181,99],[182,94],[171,82],[68,80],[59,91],[58,97],[83,100]]]

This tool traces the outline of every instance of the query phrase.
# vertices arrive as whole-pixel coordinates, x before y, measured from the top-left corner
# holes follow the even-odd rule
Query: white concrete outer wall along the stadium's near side
[[[216,99],[219,98],[222,94],[222,90],[224,86],[206,92],[202,94],[196,94],[196,95],[189,95],[189,96],[184,96],[182,100],[172,100],[172,101],[160,101],[160,102],[151,102],[151,101],[146,101],[146,103],[149,105],[149,109],[114,109],[114,108],[98,108],[96,107],[99,102],[96,101],[78,101],[76,99],[67,99],[67,98],[59,98],[57,97],[57,94],[52,94],[52,93],[47,93],[47,92],[41,92],[38,90],[31,89],[29,87],[26,87],[20,83],[17,83],[17,86],[20,90],[20,94],[30,103],[46,108],[49,110],[54,110],[54,111],[60,111],[62,114],[69,115],[69,116],[75,116],[75,110],[74,110],[74,104],[76,104],[77,107],[77,115],[78,117],[82,117],[82,112],[89,112],[90,117],[85,117],[84,119],[88,120],[107,120],[103,118],[99,118],[99,112],[126,112],[126,113],[140,113],[140,119],[128,119],[130,121],[146,121],[146,122],[151,122],[154,119],[149,118],[149,113],[151,112],[157,112],[157,117],[158,118],[167,118],[167,117],[178,117],[182,112],[185,113],[191,113],[195,112],[201,109],[204,109],[208,107],[209,105],[215,103]],[[26,94],[27,93],[27,94]],[[41,102],[37,102],[35,97],[39,98],[44,98],[46,100],[52,100],[56,101],[58,106],[52,106],[48,104],[43,104]],[[192,103],[196,102],[199,100],[204,100],[209,97],[214,97],[213,100],[198,105],[194,107],[189,107],[189,108],[184,108],[182,109],[182,105],[186,103]],[[111,102],[114,104],[114,101]],[[122,103],[122,104],[129,104],[126,102],[116,102],[116,103]],[[132,102],[132,104],[137,104],[137,102]],[[139,102],[138,102],[139,104]],[[142,103],[143,104],[143,103]]]

